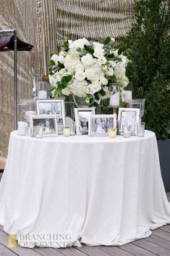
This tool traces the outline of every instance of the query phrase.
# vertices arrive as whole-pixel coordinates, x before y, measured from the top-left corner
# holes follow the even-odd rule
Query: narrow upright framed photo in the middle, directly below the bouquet
[[[95,115],[94,107],[75,108],[77,134],[88,134],[88,120],[90,115]]]

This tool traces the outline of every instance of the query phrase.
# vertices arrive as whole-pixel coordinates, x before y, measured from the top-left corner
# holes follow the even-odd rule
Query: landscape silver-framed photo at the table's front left
[[[57,136],[57,122],[56,115],[31,115],[30,128],[35,133],[35,127],[43,128],[43,136]]]

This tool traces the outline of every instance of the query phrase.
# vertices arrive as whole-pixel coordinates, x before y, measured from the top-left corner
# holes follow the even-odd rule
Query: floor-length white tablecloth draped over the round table
[[[128,139],[11,133],[0,224],[21,246],[121,245],[166,223],[170,206],[153,132]],[[41,238],[25,244],[21,234]],[[42,234],[60,234],[64,243],[60,236],[42,244]]]

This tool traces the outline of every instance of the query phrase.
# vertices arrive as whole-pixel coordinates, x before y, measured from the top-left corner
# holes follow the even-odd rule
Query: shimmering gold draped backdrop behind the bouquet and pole
[[[37,80],[47,74],[46,62],[65,38],[120,36],[132,22],[132,0],[0,0],[0,29],[17,29],[17,36],[33,44],[18,51],[18,100],[32,96],[31,70]],[[7,156],[14,130],[13,52],[0,52],[0,150]]]

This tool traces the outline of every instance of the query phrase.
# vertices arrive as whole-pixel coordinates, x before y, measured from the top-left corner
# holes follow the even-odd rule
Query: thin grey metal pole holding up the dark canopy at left
[[[14,128],[17,130],[17,30],[14,30]]]

